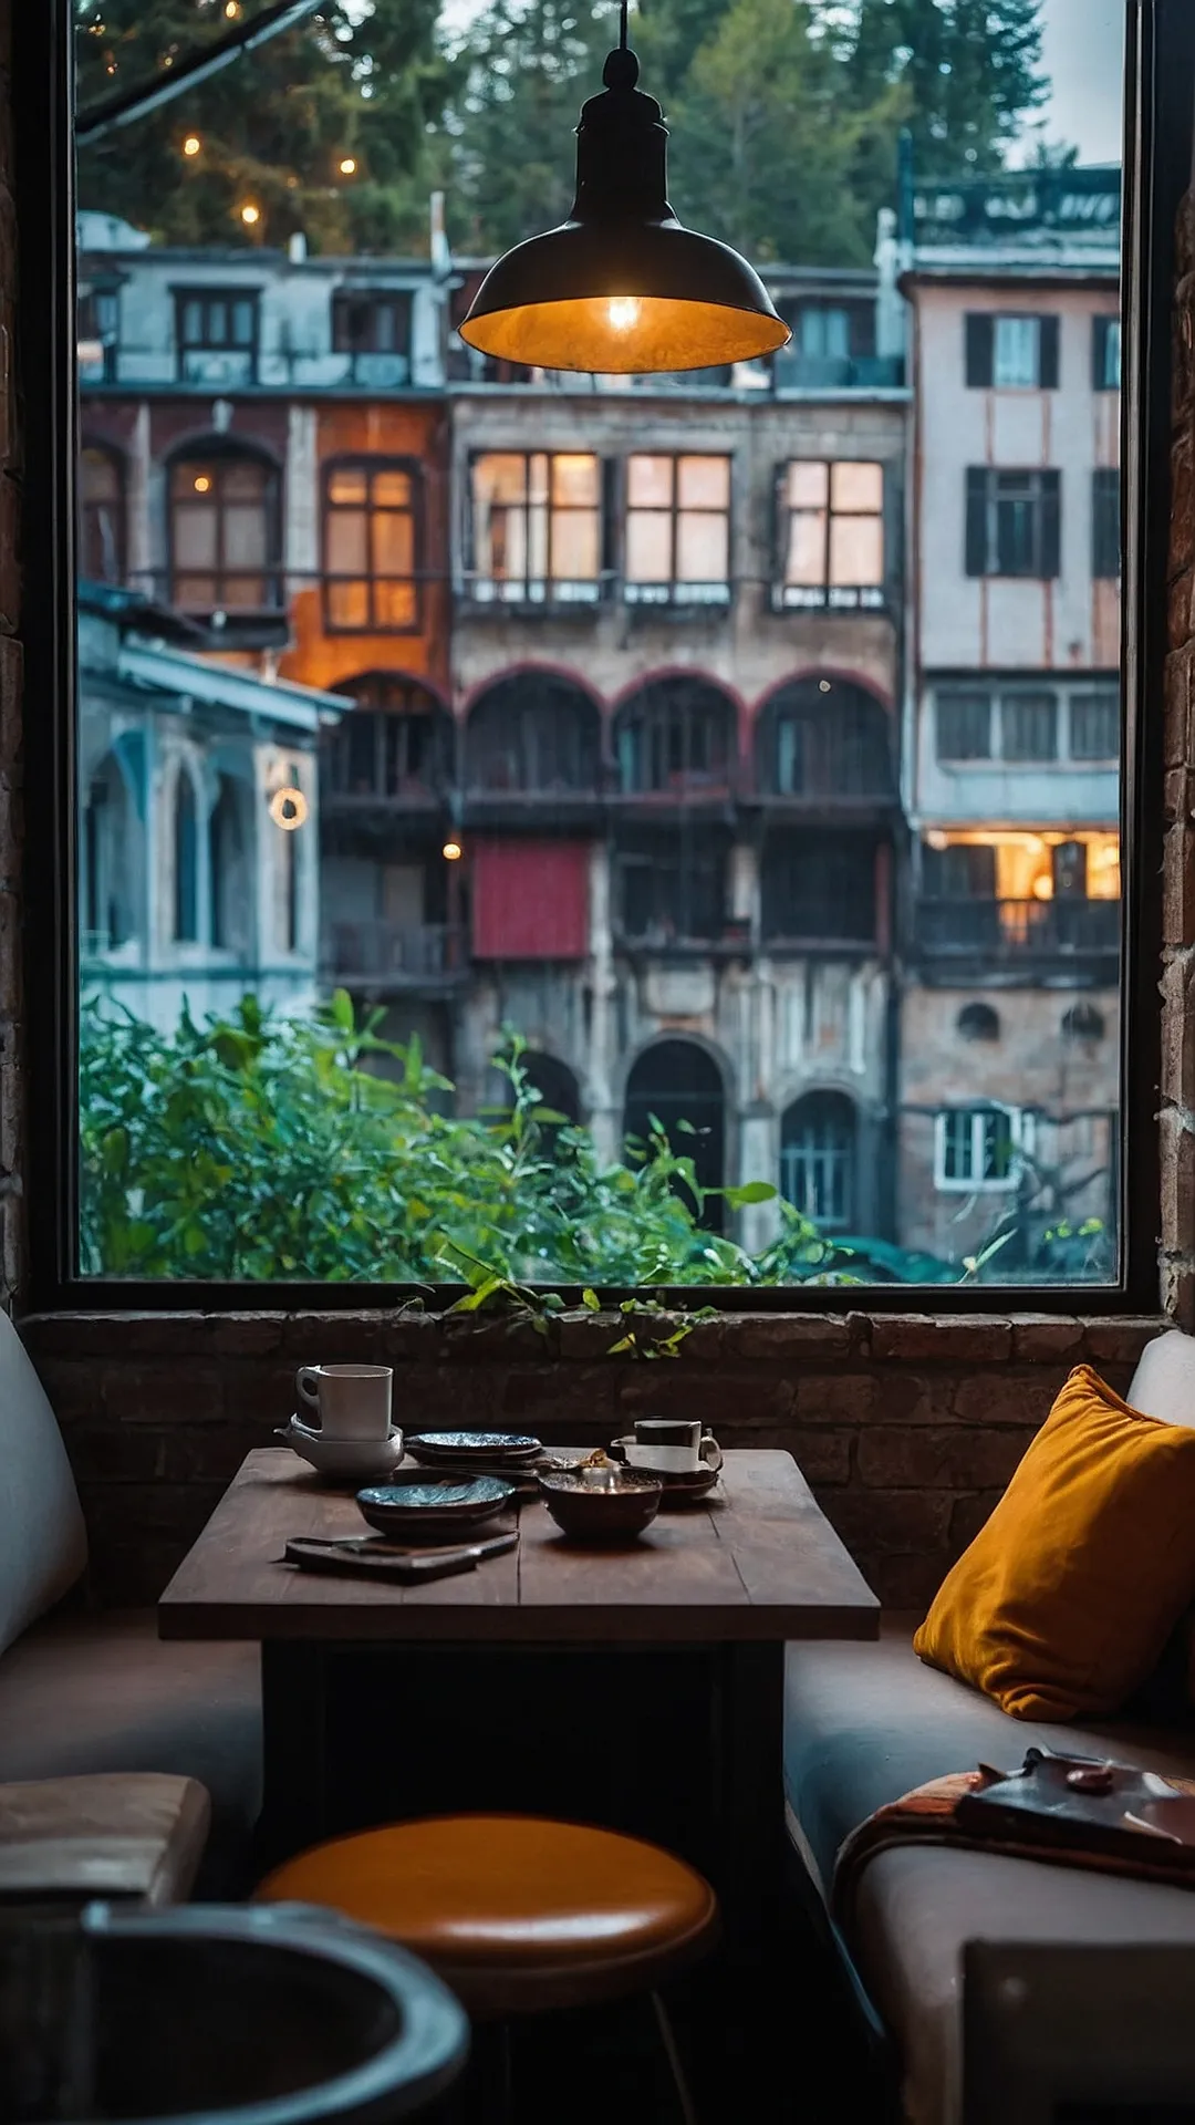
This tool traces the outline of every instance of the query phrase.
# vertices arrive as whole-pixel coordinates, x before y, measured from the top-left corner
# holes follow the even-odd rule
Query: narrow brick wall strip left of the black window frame
[[[13,212],[11,0],[0,0],[0,1305],[21,1286],[26,1088],[21,1071],[21,423],[13,374],[17,238]]]

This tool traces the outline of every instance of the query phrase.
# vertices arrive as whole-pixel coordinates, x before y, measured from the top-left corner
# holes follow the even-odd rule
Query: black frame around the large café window
[[[77,1271],[77,686],[74,686],[74,196],[70,142],[72,36],[66,0],[15,11],[13,132],[21,304],[17,361],[26,406],[23,659],[26,697],[47,712],[26,727],[26,1003],[38,1082],[26,1162],[30,1213],[26,1311],[276,1313],[289,1307],[359,1311],[408,1296],[366,1284],[179,1284],[85,1279]],[[1157,1084],[1161,1020],[1161,699],[1169,536],[1169,393],[1174,225],[1191,183],[1195,11],[1189,0],[1127,0],[1125,136],[1125,389],[1127,552],[1123,831],[1127,916],[1123,982],[1121,1275],[1104,1286],[936,1286],[940,1311],[1157,1313]],[[453,1286],[438,1298],[449,1305]],[[566,1296],[580,1298],[580,1292]],[[610,1294],[617,1296],[617,1294]],[[634,1296],[634,1294],[625,1294]],[[693,1288],[668,1292],[689,1305]],[[916,1311],[925,1288],[719,1288],[725,1311]]]

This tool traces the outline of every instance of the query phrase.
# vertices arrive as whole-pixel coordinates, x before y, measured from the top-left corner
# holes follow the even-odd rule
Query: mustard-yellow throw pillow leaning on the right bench
[[[1014,1719],[1110,1713],[1195,1598],[1195,1430],[1080,1364],[912,1645]]]

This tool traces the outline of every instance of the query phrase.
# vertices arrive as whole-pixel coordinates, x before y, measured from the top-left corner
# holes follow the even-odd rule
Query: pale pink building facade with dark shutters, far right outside
[[[899,1239],[1114,1264],[1118,170],[906,200]]]

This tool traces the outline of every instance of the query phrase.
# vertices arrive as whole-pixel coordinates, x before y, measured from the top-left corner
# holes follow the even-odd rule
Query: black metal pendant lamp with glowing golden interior
[[[708,370],[770,355],[791,338],[759,274],[668,204],[668,128],[636,89],[621,0],[619,49],[576,128],[576,200],[559,230],[517,244],[487,272],[459,327],[500,361],[595,374]]]

